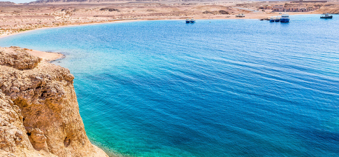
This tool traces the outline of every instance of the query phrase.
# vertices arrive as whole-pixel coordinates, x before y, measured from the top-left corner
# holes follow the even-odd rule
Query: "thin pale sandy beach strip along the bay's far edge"
[[[295,13],[299,13],[299,12],[292,12],[292,14],[290,14],[290,16],[293,16],[293,15],[319,14],[319,13],[312,13],[312,12],[305,12],[306,14],[303,14],[303,13],[295,14]],[[277,13],[277,15],[279,15],[279,14]],[[277,15],[276,14],[272,14],[270,16],[277,16]],[[21,31],[21,32],[11,33],[11,34],[0,35],[0,38],[12,36],[12,35],[18,35],[18,34],[21,34],[21,33],[27,33],[27,32],[31,32],[31,31],[34,31],[34,30],[42,30],[42,29],[49,29],[49,28],[62,28],[62,27],[74,27],[74,26],[86,26],[86,25],[99,25],[99,24],[109,24],[109,23],[118,23],[118,22],[157,21],[157,20],[182,20],[182,19],[186,19],[186,18],[184,18],[184,17],[176,17],[176,18],[171,18],[171,19],[150,18],[150,19],[115,20],[115,21],[109,21],[109,22],[97,22],[97,23],[72,24],[72,25],[53,26],[53,27],[41,27],[41,28],[25,30],[25,31]],[[229,17],[229,18],[218,18],[218,17],[215,17],[215,19],[214,18],[212,18],[212,19],[210,19],[210,18],[195,18],[195,19],[196,20],[217,20],[217,19],[220,19],[220,20],[258,19],[258,20],[260,20],[262,18],[251,18],[251,17],[236,18],[235,15],[232,15],[232,17]],[[108,20],[105,20],[105,21],[108,21]]]

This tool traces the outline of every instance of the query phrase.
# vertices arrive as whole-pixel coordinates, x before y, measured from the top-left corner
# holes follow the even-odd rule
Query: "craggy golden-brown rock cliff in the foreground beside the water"
[[[0,48],[0,156],[107,156],[88,140],[68,69]]]

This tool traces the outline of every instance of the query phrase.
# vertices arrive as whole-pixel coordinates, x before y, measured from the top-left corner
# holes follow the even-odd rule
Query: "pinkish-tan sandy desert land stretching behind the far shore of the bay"
[[[0,3],[0,37],[27,30],[68,25],[116,22],[125,20],[158,19],[235,19],[245,14],[246,19],[263,19],[278,12],[258,9],[260,5],[284,4],[316,8],[311,12],[292,14],[339,13],[339,2],[286,3],[283,1],[208,1],[208,2],[124,2],[109,4],[15,4]]]

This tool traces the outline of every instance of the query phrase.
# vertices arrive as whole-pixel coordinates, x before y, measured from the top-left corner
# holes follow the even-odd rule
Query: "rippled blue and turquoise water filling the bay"
[[[108,153],[339,156],[339,16],[319,17],[53,28],[0,46],[66,54],[54,63]]]

